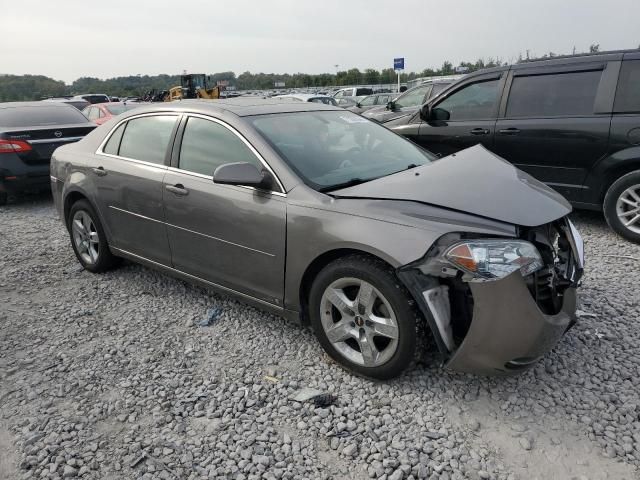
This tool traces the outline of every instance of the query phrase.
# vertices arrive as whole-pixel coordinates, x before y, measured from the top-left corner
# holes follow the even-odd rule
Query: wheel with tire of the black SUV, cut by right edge
[[[607,190],[604,217],[614,232],[640,243],[640,170],[627,173]],[[632,222],[625,225],[625,223]]]

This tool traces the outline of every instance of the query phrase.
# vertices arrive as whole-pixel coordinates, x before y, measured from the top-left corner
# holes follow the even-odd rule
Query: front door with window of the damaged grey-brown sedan
[[[174,268],[271,304],[282,305],[286,198],[282,192],[213,183],[226,163],[263,164],[226,124],[189,117],[178,168],[164,178]]]

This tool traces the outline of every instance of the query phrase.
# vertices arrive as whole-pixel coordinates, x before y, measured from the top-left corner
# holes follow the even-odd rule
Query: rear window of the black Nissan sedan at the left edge
[[[0,127],[39,127],[88,123],[77,108],[69,105],[47,105],[0,108]]]

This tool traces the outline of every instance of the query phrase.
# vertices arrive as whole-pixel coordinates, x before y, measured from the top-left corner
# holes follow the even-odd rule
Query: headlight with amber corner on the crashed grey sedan
[[[524,240],[468,240],[449,247],[444,258],[478,279],[495,280],[519,270],[522,276],[540,270],[538,249]]]

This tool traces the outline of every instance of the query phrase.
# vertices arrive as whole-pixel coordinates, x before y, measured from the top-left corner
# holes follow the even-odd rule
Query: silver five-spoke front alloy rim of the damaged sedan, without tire
[[[399,328],[389,301],[370,283],[340,278],[322,294],[320,319],[338,353],[365,367],[388,362],[398,348]]]

